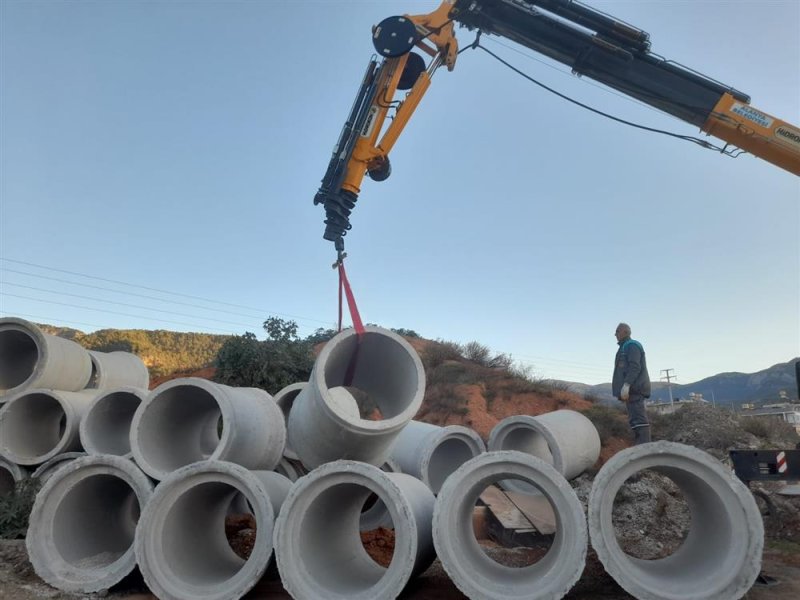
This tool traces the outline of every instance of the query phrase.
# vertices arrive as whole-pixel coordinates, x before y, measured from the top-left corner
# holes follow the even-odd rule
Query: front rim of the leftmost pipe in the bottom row
[[[109,473],[108,471],[113,471]],[[153,484],[147,476],[131,461],[119,456],[84,456],[65,465],[47,479],[33,504],[30,526],[25,537],[25,546],[36,574],[44,581],[60,590],[74,593],[90,593],[105,590],[119,583],[136,566],[134,540],[130,547],[109,565],[95,569],[81,569],[61,556],[54,541],[54,520],[43,518],[43,511],[49,506],[58,507],[74,488],[71,483],[80,483],[94,476],[113,476],[126,483],[139,503],[142,511],[153,493]],[[49,503],[55,503],[49,504]],[[55,508],[53,508],[55,511]],[[57,556],[42,558],[39,546],[46,553],[57,553]],[[96,574],[92,577],[92,574]],[[105,575],[100,575],[105,573]]]

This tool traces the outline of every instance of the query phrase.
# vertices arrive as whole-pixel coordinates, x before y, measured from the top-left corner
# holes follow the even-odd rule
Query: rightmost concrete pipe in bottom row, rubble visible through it
[[[626,554],[612,522],[617,492],[645,469],[669,477],[691,514],[683,544],[657,560]],[[683,444],[642,444],[603,465],[589,494],[589,534],[606,572],[641,600],[734,600],[761,569],[764,524],[752,494],[715,458]]]

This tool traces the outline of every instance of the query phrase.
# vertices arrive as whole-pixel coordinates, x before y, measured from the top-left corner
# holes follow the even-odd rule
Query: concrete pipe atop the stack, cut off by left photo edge
[[[0,402],[32,388],[77,392],[92,361],[82,346],[15,317],[0,319]]]

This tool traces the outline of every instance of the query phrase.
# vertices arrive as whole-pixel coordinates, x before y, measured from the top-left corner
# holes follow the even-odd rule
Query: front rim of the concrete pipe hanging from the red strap
[[[385,433],[394,431],[397,429],[402,429],[406,423],[408,423],[411,419],[414,418],[414,415],[417,414],[419,411],[420,406],[422,406],[422,400],[425,396],[425,369],[422,366],[422,361],[419,358],[416,350],[414,350],[413,346],[409,344],[402,336],[394,333],[391,330],[383,329],[382,327],[376,327],[372,325],[368,325],[364,328],[363,336],[372,336],[377,335],[379,337],[388,338],[392,340],[394,343],[398,344],[408,355],[411,363],[414,365],[414,369],[418,375],[418,381],[416,385],[416,390],[414,396],[411,398],[411,401],[406,405],[406,407],[394,417],[389,419],[381,419],[380,421],[370,421],[368,419],[353,419],[343,410],[341,410],[335,402],[331,400],[330,395],[330,388],[328,387],[328,382],[325,377],[325,369],[318,369],[316,368],[317,364],[325,365],[331,354],[336,350],[336,348],[344,343],[345,341],[349,340],[352,337],[357,337],[358,334],[353,329],[347,329],[341,331],[340,333],[336,334],[333,338],[331,338],[327,344],[322,348],[319,356],[317,357],[317,361],[315,363],[315,367],[311,372],[311,381],[314,385],[314,388],[319,393],[320,398],[322,400],[322,407],[323,409],[331,415],[333,419],[338,421],[339,423],[344,424],[348,429],[352,429],[354,431],[360,433]],[[359,342],[360,343],[360,342]],[[337,386],[331,386],[337,387]]]

